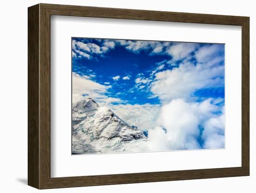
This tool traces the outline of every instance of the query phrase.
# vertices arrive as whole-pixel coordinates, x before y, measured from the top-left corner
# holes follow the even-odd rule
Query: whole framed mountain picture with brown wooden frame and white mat
[[[249,175],[249,17],[28,8],[28,185]]]

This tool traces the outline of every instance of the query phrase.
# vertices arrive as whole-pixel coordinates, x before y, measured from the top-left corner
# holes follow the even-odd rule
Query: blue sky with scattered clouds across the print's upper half
[[[179,42],[154,42],[115,39],[87,39],[73,38],[72,70],[80,76],[88,76],[91,81],[109,86],[103,94],[108,97],[119,98],[118,103],[129,104],[161,104],[168,103],[173,98],[187,98],[193,101],[202,101],[206,98],[224,98],[224,68],[220,73],[216,67],[224,66],[223,44],[198,44]],[[214,46],[214,48],[213,48]],[[176,47],[172,50],[172,47]],[[209,55],[200,56],[201,50],[211,51]],[[177,51],[178,50],[178,51]],[[180,51],[180,53],[179,53]],[[199,55],[198,55],[199,53]],[[197,56],[198,55],[198,56]],[[220,58],[212,66],[209,65],[204,71],[195,71],[195,74],[180,72],[183,76],[206,76],[202,80],[195,80],[195,84],[184,90],[184,94],[164,92],[157,88],[157,84],[168,81],[167,78],[158,78],[161,72],[171,72],[179,69],[180,65],[189,63],[195,67]],[[189,66],[187,67],[190,68]],[[160,73],[159,73],[160,72]],[[205,73],[202,75],[202,73]],[[209,77],[207,77],[209,73]],[[171,73],[169,73],[171,76]],[[197,77],[198,78],[198,77]],[[175,86],[179,86],[179,80],[175,80]],[[189,80],[189,84],[193,79]],[[206,84],[200,84],[205,81]],[[181,81],[182,82],[182,81]],[[111,86],[111,87],[110,87]],[[166,84],[166,87],[173,87]],[[186,87],[186,82],[180,85]],[[174,88],[175,89],[175,88]],[[184,89],[184,88],[183,88]],[[182,89],[178,89],[182,92]],[[83,93],[84,96],[88,93]],[[164,97],[161,97],[163,95]],[[168,98],[169,96],[169,98]]]

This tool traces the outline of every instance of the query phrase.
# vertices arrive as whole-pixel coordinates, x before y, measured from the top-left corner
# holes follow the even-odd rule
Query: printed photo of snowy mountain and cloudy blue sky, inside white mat
[[[225,148],[224,47],[72,38],[72,154]]]

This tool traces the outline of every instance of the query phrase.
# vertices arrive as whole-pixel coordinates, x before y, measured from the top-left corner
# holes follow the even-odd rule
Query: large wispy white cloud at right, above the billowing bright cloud
[[[174,98],[190,98],[195,90],[224,85],[224,66],[182,63],[172,70],[157,72],[150,90],[166,103]]]

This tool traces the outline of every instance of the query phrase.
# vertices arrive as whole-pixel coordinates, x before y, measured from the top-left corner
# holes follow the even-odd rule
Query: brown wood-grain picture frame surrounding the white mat
[[[242,26],[242,167],[51,178],[50,16],[66,15]],[[38,4],[28,8],[28,185],[38,188],[249,175],[249,17]]]

